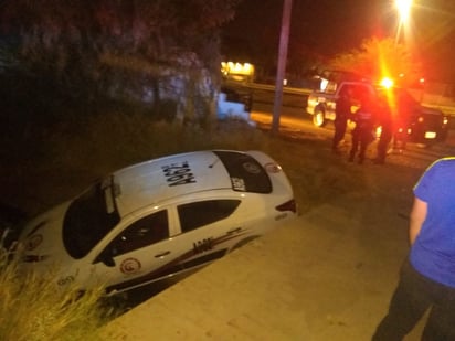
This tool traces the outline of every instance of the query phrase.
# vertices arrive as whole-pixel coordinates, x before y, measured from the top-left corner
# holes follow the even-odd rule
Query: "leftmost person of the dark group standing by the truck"
[[[351,94],[348,87],[343,87],[335,105],[335,134],[331,145],[334,153],[339,153],[338,146],[345,138],[348,119],[351,116]]]

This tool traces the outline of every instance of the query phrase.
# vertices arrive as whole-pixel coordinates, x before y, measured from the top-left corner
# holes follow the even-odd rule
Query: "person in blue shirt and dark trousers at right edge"
[[[414,187],[411,251],[373,341],[402,340],[427,309],[422,340],[455,340],[455,158],[434,162]]]

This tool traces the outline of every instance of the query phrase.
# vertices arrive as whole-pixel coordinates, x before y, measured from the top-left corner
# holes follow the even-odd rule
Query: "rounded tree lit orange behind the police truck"
[[[421,77],[421,64],[405,45],[393,39],[364,40],[360,49],[337,55],[329,62],[332,70],[342,70],[379,81],[384,76],[396,78],[405,75],[414,81]]]

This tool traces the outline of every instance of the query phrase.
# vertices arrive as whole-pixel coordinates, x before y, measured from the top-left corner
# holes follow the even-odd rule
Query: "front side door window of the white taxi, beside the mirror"
[[[169,238],[168,212],[147,215],[126,227],[109,245],[115,257]]]

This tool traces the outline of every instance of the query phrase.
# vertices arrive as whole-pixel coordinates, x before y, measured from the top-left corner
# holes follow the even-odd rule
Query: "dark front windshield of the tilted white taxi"
[[[76,198],[63,221],[63,244],[70,256],[82,258],[120,221],[114,178],[99,181]]]

